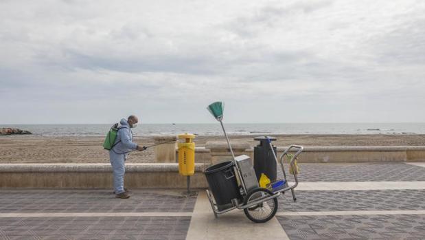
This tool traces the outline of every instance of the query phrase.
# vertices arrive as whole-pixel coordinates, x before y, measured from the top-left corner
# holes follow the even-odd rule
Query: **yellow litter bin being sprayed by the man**
[[[192,176],[195,173],[195,143],[192,139],[195,135],[190,133],[178,136],[179,144],[179,173],[183,176]],[[184,140],[184,142],[180,142]]]

